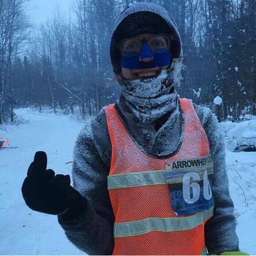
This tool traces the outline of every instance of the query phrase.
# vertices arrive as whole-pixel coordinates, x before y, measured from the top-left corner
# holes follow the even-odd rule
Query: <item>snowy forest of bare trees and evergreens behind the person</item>
[[[29,0],[0,0],[0,125],[14,109],[95,115],[120,93],[109,58],[116,17],[135,1],[74,0],[36,27]],[[256,115],[256,0],[155,0],[174,18],[183,44],[181,97],[219,120]]]

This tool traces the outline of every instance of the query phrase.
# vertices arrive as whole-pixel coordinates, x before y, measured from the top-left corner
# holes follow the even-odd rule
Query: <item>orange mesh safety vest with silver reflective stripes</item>
[[[180,103],[184,139],[177,153],[165,159],[150,156],[137,146],[113,104],[104,108],[112,144],[108,191],[115,217],[113,255],[206,255],[204,225],[213,215],[213,206],[177,215],[166,181],[168,162],[170,165],[210,154],[206,133],[192,102],[180,99]],[[191,173],[191,166],[185,167]],[[202,173],[197,175],[198,182],[205,178]],[[189,178],[188,186],[196,187],[198,183],[193,182],[192,186],[191,181]],[[204,192],[209,192],[208,187]]]

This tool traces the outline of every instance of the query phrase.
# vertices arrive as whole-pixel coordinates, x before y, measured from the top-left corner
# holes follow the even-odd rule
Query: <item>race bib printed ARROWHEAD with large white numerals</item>
[[[165,174],[172,207],[178,216],[207,210],[214,205],[211,155],[166,162]]]

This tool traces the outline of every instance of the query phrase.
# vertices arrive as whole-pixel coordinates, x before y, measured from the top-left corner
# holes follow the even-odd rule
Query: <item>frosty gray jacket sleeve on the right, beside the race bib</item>
[[[214,179],[212,181],[214,214],[204,228],[207,251],[209,254],[217,255],[227,251],[239,251],[236,218],[233,214],[234,204],[229,195],[225,143],[221,126],[210,109],[197,106],[196,110],[206,131],[214,163]]]

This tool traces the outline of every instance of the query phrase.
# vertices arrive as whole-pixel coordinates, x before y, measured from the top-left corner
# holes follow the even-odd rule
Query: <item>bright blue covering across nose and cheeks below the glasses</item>
[[[136,54],[134,52],[125,52],[126,56],[131,55],[133,57],[124,57],[121,55],[121,66],[128,69],[143,69],[169,65],[171,63],[170,49],[166,52],[162,51],[163,49],[161,49],[161,52],[159,53],[151,52],[147,43],[144,42],[141,51],[136,56],[133,56]],[[142,60],[144,58],[152,58],[152,60],[149,62],[139,61],[140,59]]]

